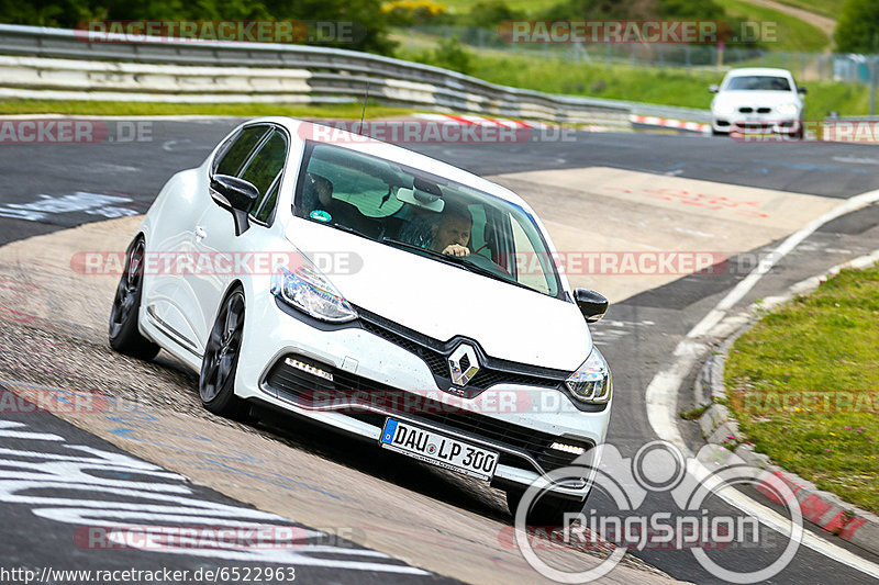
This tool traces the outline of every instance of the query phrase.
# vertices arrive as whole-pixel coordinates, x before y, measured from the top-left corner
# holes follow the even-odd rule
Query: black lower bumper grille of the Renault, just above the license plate
[[[296,360],[300,367],[288,363],[288,358]],[[301,365],[319,369],[322,373],[330,374],[332,380],[304,371]],[[557,437],[478,413],[453,408],[439,401],[382,385],[301,356],[280,358],[269,370],[262,386],[265,392],[298,406],[341,412],[378,428],[385,425],[386,416],[390,415],[415,424],[426,424],[441,431],[457,431],[465,438],[477,441],[487,440],[509,450],[501,451],[501,463],[531,468],[537,472],[570,465],[578,457],[553,449],[552,445],[556,441],[581,447],[586,451],[594,447],[585,439]],[[527,453],[538,466],[535,468],[532,461],[516,452]]]

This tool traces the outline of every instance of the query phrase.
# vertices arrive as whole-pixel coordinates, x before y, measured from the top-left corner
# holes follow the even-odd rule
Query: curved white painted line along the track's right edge
[[[677,446],[685,454],[692,455],[692,451],[687,446],[678,429],[677,402],[678,391],[683,380],[692,370],[693,365],[696,365],[699,357],[709,349],[706,344],[698,341],[697,338],[721,326],[730,308],[741,301],[781,258],[793,250],[816,229],[827,222],[866,207],[877,201],[879,201],[879,190],[855,195],[788,236],[772,254],[769,254],[742,282],[730,291],[699,324],[690,329],[687,337],[680,341],[675,349],[675,362],[665,370],[659,371],[647,385],[645,394],[647,419],[654,432],[656,432],[660,439]],[[692,461],[693,464],[688,469],[688,472],[697,480],[703,479],[711,473],[702,463],[696,460]],[[790,524],[789,520],[771,508],[755,502],[750,497],[731,487],[721,490],[717,492],[717,495],[731,506],[757,518],[765,526],[781,533],[787,532],[785,527]],[[811,531],[803,532],[802,544],[820,554],[848,565],[852,569],[879,578],[879,564],[861,559],[857,554],[833,544]]]

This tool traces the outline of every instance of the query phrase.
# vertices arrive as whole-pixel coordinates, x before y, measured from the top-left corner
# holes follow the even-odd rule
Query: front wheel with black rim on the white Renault
[[[215,415],[235,419],[244,418],[247,413],[247,404],[235,395],[244,315],[244,291],[235,286],[216,313],[199,374],[201,404]]]

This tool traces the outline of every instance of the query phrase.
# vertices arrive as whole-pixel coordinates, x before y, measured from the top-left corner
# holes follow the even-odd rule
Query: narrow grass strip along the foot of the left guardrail
[[[296,105],[281,103],[162,103],[162,102],[99,102],[64,100],[0,100],[0,114],[68,114],[68,115],[229,115],[256,117],[286,115],[292,117],[359,119],[363,103]],[[407,108],[390,108],[367,103],[366,117],[390,117],[414,112]]]

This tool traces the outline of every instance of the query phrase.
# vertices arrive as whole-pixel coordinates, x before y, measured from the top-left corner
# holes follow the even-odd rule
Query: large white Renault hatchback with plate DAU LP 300
[[[127,250],[110,341],[199,372],[204,406],[280,409],[491,482],[511,510],[593,453],[611,372],[514,193],[342,131],[260,119],[163,188]],[[592,475],[532,521],[579,510]],[[514,513],[514,511],[513,511]]]

